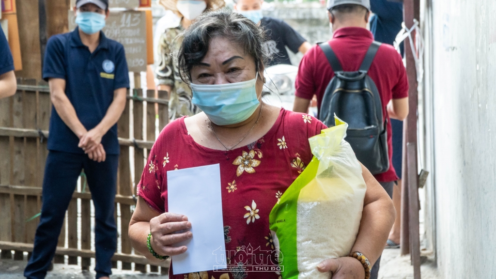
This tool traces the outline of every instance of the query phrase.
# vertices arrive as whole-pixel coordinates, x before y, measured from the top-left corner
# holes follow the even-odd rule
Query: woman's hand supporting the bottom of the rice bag
[[[332,279],[364,279],[365,269],[359,260],[352,257],[328,259],[317,266],[319,272],[331,272]]]

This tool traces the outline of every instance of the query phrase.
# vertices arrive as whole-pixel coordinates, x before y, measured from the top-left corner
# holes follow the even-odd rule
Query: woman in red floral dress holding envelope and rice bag
[[[216,163],[221,169],[226,251],[248,245],[272,248],[269,212],[310,162],[308,139],[325,126],[309,115],[260,101],[266,58],[263,42],[263,31],[256,24],[227,11],[204,14],[186,31],[179,66],[192,88],[193,102],[203,112],[166,126],[138,185],[129,235],[133,247],[151,261],[156,259],[147,248],[149,233],[158,258],[186,252],[186,246],[177,243],[194,237],[188,231],[194,223],[187,216],[168,212],[167,171]],[[363,253],[373,265],[395,212],[386,192],[362,168],[367,192],[353,251]],[[329,212],[334,213],[338,212]],[[173,275],[171,268],[169,278],[280,278],[274,271],[247,272],[234,257],[227,264],[231,269],[225,273]],[[334,279],[365,278],[364,266],[352,257],[328,259],[318,270],[331,271]]]

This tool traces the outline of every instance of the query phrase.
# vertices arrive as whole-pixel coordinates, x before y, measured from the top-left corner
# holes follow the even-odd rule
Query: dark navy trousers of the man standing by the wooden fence
[[[84,169],[95,206],[96,278],[112,274],[111,258],[117,248],[114,199],[119,155],[107,155],[105,162],[90,160],[86,154],[50,151],[43,179],[43,205],[36,229],[32,256],[24,270],[29,279],[45,278],[55,255],[65,211],[77,179]]]

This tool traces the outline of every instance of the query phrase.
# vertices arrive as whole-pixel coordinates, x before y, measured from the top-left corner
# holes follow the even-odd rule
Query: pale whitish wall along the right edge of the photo
[[[496,278],[496,1],[431,2],[437,262]]]

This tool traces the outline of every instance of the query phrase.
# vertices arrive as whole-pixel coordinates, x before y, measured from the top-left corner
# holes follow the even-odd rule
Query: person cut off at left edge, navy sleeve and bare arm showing
[[[14,60],[3,29],[0,27],[0,99],[14,95],[16,88]]]

